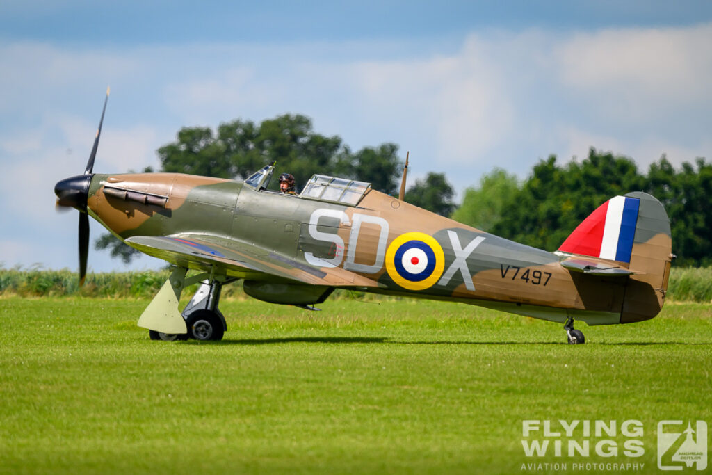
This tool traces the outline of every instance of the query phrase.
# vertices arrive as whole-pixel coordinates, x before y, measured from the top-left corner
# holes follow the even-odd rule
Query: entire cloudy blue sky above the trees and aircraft
[[[107,85],[98,172],[156,166],[182,126],[283,113],[352,149],[395,142],[413,179],[444,172],[459,194],[589,147],[643,171],[712,158],[708,1],[101,3],[0,3],[6,267],[76,267],[53,185],[83,170]]]

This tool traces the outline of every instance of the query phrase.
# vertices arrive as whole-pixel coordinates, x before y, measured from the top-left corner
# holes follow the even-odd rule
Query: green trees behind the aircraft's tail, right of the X
[[[643,174],[630,158],[593,148],[581,162],[559,164],[552,155],[523,182],[494,169],[466,190],[452,217],[554,251],[600,204],[632,191],[652,194],[665,207],[676,265],[712,264],[712,164],[703,158],[675,169],[663,156]]]

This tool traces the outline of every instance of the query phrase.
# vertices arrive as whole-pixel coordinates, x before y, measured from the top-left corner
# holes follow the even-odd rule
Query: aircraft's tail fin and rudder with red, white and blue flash
[[[662,204],[643,192],[609,199],[590,214],[559,251],[614,261],[631,272],[621,323],[648,320],[663,306],[672,240]]]

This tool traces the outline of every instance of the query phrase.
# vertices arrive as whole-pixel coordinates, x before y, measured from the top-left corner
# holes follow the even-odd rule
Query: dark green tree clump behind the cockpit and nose
[[[314,132],[304,115],[280,115],[259,125],[233,120],[215,132],[210,127],[183,127],[176,139],[157,150],[160,172],[246,178],[276,161],[277,173],[293,174],[298,189],[318,173],[371,182],[375,189],[391,194],[400,176],[397,145],[386,143],[353,153],[337,135]],[[278,186],[273,179],[270,188]],[[95,248],[110,249],[125,263],[139,254],[111,234],[100,236]]]

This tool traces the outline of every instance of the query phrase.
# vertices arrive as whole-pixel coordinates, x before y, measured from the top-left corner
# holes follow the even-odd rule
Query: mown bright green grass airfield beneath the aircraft
[[[222,342],[157,342],[147,303],[0,298],[0,473],[660,473],[657,422],[712,422],[711,305],[567,345],[518,315],[345,299],[224,301]],[[528,457],[523,419],[637,419],[644,454]]]

